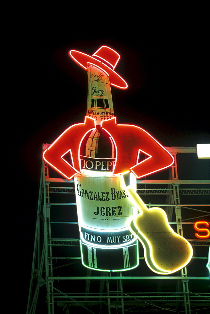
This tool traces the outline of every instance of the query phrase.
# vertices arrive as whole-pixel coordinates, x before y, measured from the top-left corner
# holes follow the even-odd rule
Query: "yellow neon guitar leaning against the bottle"
[[[165,275],[185,267],[193,254],[190,243],[170,227],[163,209],[148,209],[132,188],[128,188],[128,192],[140,212],[131,221],[130,231],[143,245],[148,267]]]

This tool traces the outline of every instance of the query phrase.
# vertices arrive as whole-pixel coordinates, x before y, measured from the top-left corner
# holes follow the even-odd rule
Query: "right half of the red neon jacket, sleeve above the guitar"
[[[113,174],[131,170],[137,178],[162,170],[174,163],[173,156],[141,127],[119,124],[115,119],[103,122],[117,147],[117,161]],[[138,162],[139,151],[148,158]]]

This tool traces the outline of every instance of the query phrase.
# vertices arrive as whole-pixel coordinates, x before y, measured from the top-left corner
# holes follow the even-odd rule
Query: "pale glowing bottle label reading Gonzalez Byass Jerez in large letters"
[[[97,175],[99,172],[97,172]],[[137,210],[121,176],[75,176],[78,222],[98,230],[128,229]]]

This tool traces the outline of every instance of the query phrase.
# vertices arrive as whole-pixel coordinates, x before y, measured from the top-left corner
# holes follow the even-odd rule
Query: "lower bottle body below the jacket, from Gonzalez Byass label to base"
[[[139,264],[138,241],[129,230],[137,211],[121,175],[110,173],[88,175],[85,170],[74,179],[82,263],[97,270],[128,270]]]

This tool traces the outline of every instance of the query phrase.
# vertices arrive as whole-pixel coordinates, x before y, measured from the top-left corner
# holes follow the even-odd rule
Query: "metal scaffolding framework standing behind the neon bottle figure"
[[[137,180],[137,193],[148,207],[166,211],[171,227],[193,246],[191,262],[173,276],[156,276],[147,268],[139,243],[138,268],[112,273],[82,266],[74,181],[58,177],[43,162],[27,314],[38,313],[45,304],[48,314],[73,314],[79,307],[83,313],[95,314],[152,309],[157,313],[191,314],[195,309],[205,313],[210,302],[209,239],[192,238],[192,230],[196,219],[209,220],[210,180],[178,179],[177,154],[195,154],[196,147],[166,149],[175,159],[169,174],[164,172],[167,179]],[[38,298],[43,288],[47,301]]]

